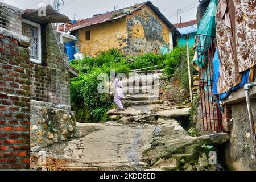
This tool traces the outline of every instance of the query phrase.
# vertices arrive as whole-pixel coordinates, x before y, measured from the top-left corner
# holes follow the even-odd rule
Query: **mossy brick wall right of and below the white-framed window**
[[[69,73],[65,68],[64,56],[60,52],[51,24],[45,28],[43,64],[31,63],[31,99],[69,106]]]

